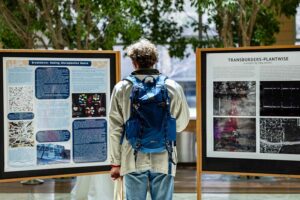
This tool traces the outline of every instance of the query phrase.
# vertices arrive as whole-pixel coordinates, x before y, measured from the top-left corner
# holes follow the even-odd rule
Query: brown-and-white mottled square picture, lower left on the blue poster
[[[9,147],[33,147],[34,127],[32,121],[15,121],[8,123]]]

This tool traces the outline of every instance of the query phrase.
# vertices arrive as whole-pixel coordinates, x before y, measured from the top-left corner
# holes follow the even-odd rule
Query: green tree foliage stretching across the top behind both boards
[[[184,0],[0,0],[0,42],[5,48],[112,49],[117,43],[127,46],[147,38],[167,45],[171,56],[183,58],[187,44],[194,48],[242,46],[245,41],[273,44],[278,15],[294,16],[299,2],[190,0],[200,16],[209,15],[209,24],[194,19],[179,25],[174,18],[184,12]],[[242,30],[241,24],[249,25],[253,15],[254,26]],[[212,24],[214,36],[209,34]],[[201,34],[186,38],[187,27]],[[250,38],[245,39],[245,32]]]

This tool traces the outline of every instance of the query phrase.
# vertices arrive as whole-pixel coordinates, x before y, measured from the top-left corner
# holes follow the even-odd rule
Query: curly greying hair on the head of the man
[[[157,48],[146,39],[141,39],[130,45],[126,51],[127,55],[137,62],[140,68],[151,68],[158,61]]]

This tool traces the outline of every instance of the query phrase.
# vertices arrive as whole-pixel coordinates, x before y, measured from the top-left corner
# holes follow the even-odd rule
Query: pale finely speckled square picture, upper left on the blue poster
[[[9,112],[33,111],[33,87],[15,86],[8,88]]]

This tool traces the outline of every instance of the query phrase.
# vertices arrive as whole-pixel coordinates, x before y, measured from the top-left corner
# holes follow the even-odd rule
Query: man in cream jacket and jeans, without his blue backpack
[[[132,72],[134,78],[143,80],[146,76],[160,76],[159,71],[153,68],[157,63],[158,53],[151,42],[140,40],[127,48],[127,54],[135,69]],[[183,90],[173,80],[166,79],[164,83],[170,99],[170,114],[176,120],[176,131],[181,132],[189,122],[189,110]],[[167,150],[137,153],[126,137],[122,139],[124,125],[131,116],[132,87],[130,81],[123,80],[117,83],[112,93],[109,111],[111,177],[114,180],[125,177],[127,200],[145,200],[148,185],[153,200],[172,200],[177,162],[175,145],[171,155]]]

